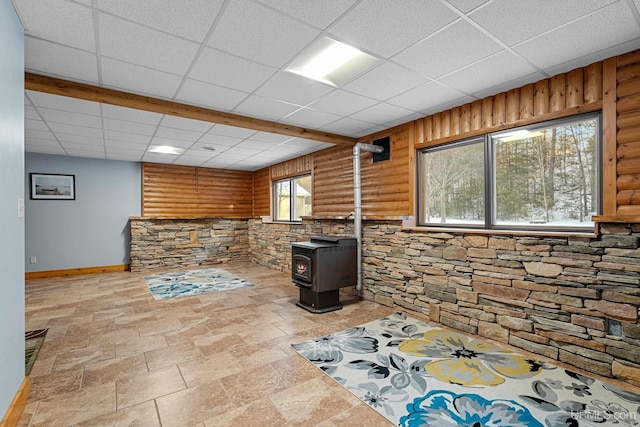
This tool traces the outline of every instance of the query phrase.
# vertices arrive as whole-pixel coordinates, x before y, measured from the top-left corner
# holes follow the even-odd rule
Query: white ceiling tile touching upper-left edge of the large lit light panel
[[[256,3],[231,2],[209,46],[280,68],[319,31]]]

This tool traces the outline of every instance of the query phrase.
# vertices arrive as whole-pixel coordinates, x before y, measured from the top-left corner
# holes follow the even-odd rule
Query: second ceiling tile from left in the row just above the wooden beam
[[[102,81],[105,86],[119,90],[170,99],[182,79],[174,74],[102,58]]]

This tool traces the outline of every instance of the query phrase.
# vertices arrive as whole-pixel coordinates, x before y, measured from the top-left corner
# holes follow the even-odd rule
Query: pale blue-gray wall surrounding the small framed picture
[[[30,173],[75,175],[76,199],[31,200]],[[129,263],[129,217],[142,206],[140,163],[27,153],[24,176],[27,272]]]

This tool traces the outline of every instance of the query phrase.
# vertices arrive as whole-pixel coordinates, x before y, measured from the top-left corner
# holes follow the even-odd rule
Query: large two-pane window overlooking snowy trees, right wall
[[[421,150],[420,224],[592,229],[600,135],[590,114]]]

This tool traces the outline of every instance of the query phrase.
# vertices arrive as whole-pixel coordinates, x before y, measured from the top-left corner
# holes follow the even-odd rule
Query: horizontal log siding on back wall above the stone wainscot
[[[142,164],[146,217],[250,218],[253,174],[191,166]]]

